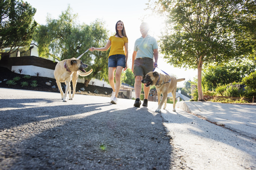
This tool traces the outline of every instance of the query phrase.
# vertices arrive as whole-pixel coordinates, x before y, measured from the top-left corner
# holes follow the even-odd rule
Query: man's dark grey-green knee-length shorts
[[[133,65],[134,77],[140,75],[144,79],[147,73],[154,70],[153,64],[154,61],[151,58],[136,58]]]

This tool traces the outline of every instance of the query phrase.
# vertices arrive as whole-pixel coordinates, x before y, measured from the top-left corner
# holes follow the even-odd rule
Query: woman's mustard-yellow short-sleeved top
[[[125,55],[124,44],[128,43],[128,40],[126,37],[120,38],[116,36],[111,36],[109,40],[111,41],[111,48],[108,56],[116,55],[116,54]]]

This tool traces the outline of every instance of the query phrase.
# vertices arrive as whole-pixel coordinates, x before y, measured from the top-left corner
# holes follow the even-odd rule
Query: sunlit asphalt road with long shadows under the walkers
[[[129,99],[0,94],[0,169],[256,169],[253,137],[172,112],[171,104],[159,114],[154,102],[135,108]]]

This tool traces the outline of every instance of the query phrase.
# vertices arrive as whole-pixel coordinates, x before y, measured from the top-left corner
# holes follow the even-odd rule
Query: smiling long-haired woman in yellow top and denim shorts
[[[117,21],[116,34],[108,39],[105,47],[91,47],[90,51],[106,51],[110,46],[111,49],[108,56],[108,80],[111,88],[113,89],[110,100],[112,104],[117,104],[117,96],[121,86],[121,73],[123,69],[124,71],[127,69],[128,59],[128,38],[126,36],[124,23],[122,21]],[[115,71],[116,74],[114,76]],[[114,82],[114,77],[116,80],[116,85]]]

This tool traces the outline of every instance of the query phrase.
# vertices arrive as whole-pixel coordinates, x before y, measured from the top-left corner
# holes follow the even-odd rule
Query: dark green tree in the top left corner
[[[35,13],[36,9],[27,2],[0,1],[0,51],[7,47],[11,48],[8,53],[20,47],[28,50],[37,25],[33,20]]]

